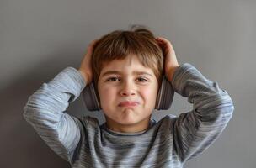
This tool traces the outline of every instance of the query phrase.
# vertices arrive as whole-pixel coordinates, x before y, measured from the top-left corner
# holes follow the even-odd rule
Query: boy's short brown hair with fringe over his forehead
[[[158,86],[163,79],[163,52],[154,34],[141,25],[131,25],[129,30],[115,30],[102,36],[94,45],[92,55],[93,82],[98,86],[104,63],[123,60],[127,55],[136,55],[143,66],[149,67],[157,76]]]

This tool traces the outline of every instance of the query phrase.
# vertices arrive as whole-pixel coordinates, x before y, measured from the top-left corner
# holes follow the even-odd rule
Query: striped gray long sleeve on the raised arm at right
[[[175,92],[193,103],[193,109],[181,113],[173,125],[173,145],[181,162],[185,162],[217,139],[232,118],[234,106],[227,91],[189,63],[176,69],[172,84]]]

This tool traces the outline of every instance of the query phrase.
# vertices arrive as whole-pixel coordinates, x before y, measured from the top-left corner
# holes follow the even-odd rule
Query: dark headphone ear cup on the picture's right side
[[[157,110],[168,110],[172,103],[174,97],[174,90],[172,83],[168,81],[166,76],[163,76],[161,87],[157,92],[157,101],[155,109]]]

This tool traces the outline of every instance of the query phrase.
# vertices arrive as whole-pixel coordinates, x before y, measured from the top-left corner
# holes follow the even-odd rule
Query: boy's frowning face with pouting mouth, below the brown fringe
[[[104,75],[108,71],[117,72]],[[147,74],[136,74],[136,71]],[[157,77],[152,69],[142,66],[135,55],[104,65],[98,91],[108,128],[127,133],[147,129],[156,103],[157,88]],[[125,101],[137,103],[130,106],[120,104]]]

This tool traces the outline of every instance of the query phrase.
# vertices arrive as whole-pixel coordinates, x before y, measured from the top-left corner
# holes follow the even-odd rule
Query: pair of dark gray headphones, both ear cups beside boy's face
[[[89,83],[82,91],[83,102],[89,111],[101,110],[99,103],[99,95],[94,89],[94,82]],[[97,87],[96,87],[97,88]],[[168,81],[166,76],[163,76],[161,87],[157,92],[157,102],[155,109],[167,110],[173,102],[174,90],[172,83]]]

